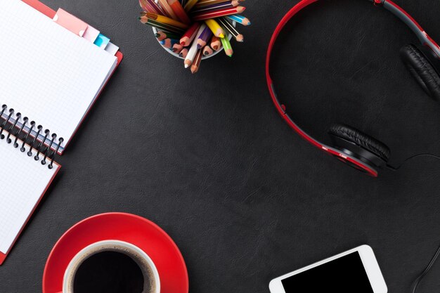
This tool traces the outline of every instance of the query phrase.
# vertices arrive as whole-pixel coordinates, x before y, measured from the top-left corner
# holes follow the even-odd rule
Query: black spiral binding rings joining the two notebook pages
[[[5,113],[8,113],[8,117],[5,119],[4,115]],[[40,155],[43,157],[43,159],[41,159],[41,164],[42,165],[46,165],[48,161],[50,161],[50,163],[48,164],[48,169],[52,169],[53,168],[53,162],[55,160],[56,154],[58,152],[58,150],[60,149],[60,145],[63,143],[64,139],[63,138],[58,138],[58,144],[56,146],[56,150],[52,151],[51,148],[53,146],[53,143],[56,142],[57,139],[57,135],[56,134],[51,134],[51,131],[49,131],[48,129],[44,130],[44,139],[41,142],[37,141],[37,138],[39,137],[39,135],[41,134],[41,132],[43,131],[43,126],[38,125],[37,126],[37,135],[34,136],[34,138],[32,138],[32,135],[30,135],[32,133],[32,131],[35,131],[35,126],[37,125],[34,121],[29,122],[29,118],[27,117],[23,117],[20,112],[18,112],[17,114],[15,114],[15,119],[14,122],[12,122],[11,118],[13,117],[15,113],[15,110],[8,109],[7,105],[2,105],[1,106],[1,111],[0,111],[0,119],[4,120],[3,122],[1,122],[0,124],[0,139],[4,140],[6,138],[6,143],[12,143],[11,140],[11,135],[15,136],[15,140],[13,142],[13,147],[14,148],[18,148],[19,144],[18,144],[18,140],[20,139],[20,141],[22,141],[22,145],[20,148],[21,152],[25,152],[26,148],[25,145],[28,143],[30,145],[29,150],[27,151],[27,155],[29,157],[32,157],[33,152],[32,150],[37,151],[36,155],[34,156],[34,159],[36,161],[38,161],[40,159]],[[20,122],[21,126],[20,128],[15,131],[15,134],[13,134],[13,130],[17,129],[17,124]],[[29,131],[25,131],[25,127],[27,124],[30,124],[29,126]],[[10,126],[8,127],[8,124],[10,124]],[[8,127],[6,129],[6,127]],[[4,131],[8,132],[8,135],[5,137]],[[48,144],[48,146],[46,147],[45,143],[46,143],[46,139],[48,138],[48,136],[51,136],[51,142]],[[37,143],[37,145],[36,145]]]

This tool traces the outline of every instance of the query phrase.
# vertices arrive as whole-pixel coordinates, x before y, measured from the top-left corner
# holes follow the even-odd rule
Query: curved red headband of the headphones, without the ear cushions
[[[358,159],[356,157],[347,155],[347,153],[344,153],[341,150],[337,150],[336,148],[332,148],[332,147],[325,145],[319,141],[316,141],[316,139],[314,139],[311,136],[309,136],[308,134],[306,134],[306,132],[303,131],[301,128],[299,128],[299,126],[297,124],[295,124],[295,122],[292,120],[292,118],[290,118],[290,116],[287,114],[287,112],[285,110],[285,105],[280,103],[280,101],[278,100],[278,97],[276,95],[276,92],[275,92],[275,89],[273,86],[273,82],[271,79],[271,74],[269,72],[269,65],[270,65],[270,61],[271,61],[271,53],[272,53],[273,46],[275,45],[275,42],[276,42],[276,39],[278,38],[278,35],[280,34],[281,30],[283,30],[283,28],[285,27],[287,22],[289,22],[289,20],[291,18],[293,18],[297,13],[299,13],[299,11],[302,11],[302,9],[315,3],[316,1],[318,1],[318,0],[302,0],[302,1],[300,1],[297,5],[295,5],[293,8],[291,8],[290,11],[287,12],[286,15],[284,15],[284,17],[280,20],[280,22],[276,26],[276,29],[273,32],[273,35],[271,37],[271,41],[269,42],[267,53],[266,53],[266,81],[267,81],[269,93],[271,94],[271,98],[273,100],[273,103],[275,104],[275,107],[278,110],[278,112],[280,113],[281,117],[283,117],[283,119],[285,119],[285,122],[287,122],[287,124],[289,124],[289,126],[292,127],[292,129],[297,131],[297,133],[300,136],[302,136],[302,138],[304,138],[306,141],[309,141],[309,143],[311,143],[312,145],[315,145],[317,148],[320,148],[321,150],[328,152],[330,155],[334,155],[335,157],[338,157],[339,159],[343,159],[345,161],[348,161],[351,164],[354,164],[354,166],[356,166],[357,168],[367,172],[371,176],[377,177],[377,171],[375,169],[373,169],[372,167],[368,166],[368,164],[365,164],[365,162],[361,161],[360,159]],[[384,7],[385,9],[387,9],[388,11],[390,11],[391,13],[396,15],[397,18],[399,18],[400,20],[405,22],[406,25],[408,25],[408,27],[410,27],[410,29],[416,34],[416,36],[418,37],[420,42],[423,45],[431,48],[432,51],[434,51],[434,53],[436,54],[436,56],[438,58],[440,58],[439,45],[437,45],[436,42],[427,35],[425,30],[422,29],[422,27],[418,24],[418,22],[416,22],[414,20],[414,18],[412,18],[409,15],[409,13],[404,11],[403,8],[401,8],[400,6],[398,6],[397,4],[395,4],[391,0],[368,0],[368,1],[373,2],[373,4],[375,6]]]

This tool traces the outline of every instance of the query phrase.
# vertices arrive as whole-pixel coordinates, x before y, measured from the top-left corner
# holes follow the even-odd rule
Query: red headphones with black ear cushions
[[[340,161],[349,164],[358,170],[377,177],[377,169],[387,165],[390,150],[384,143],[377,139],[364,134],[362,131],[345,124],[334,124],[328,130],[332,145],[325,145],[306,134],[287,114],[285,105],[280,103],[276,96],[271,75],[269,73],[269,65],[271,61],[271,53],[273,45],[276,42],[286,23],[303,8],[318,0],[302,0],[295,5],[283,17],[273,32],[271,42],[269,43],[266,55],[266,80],[269,92],[276,109],[280,112],[285,122],[292,127],[306,141],[315,145],[321,150],[335,156]],[[401,48],[401,58],[413,77],[429,96],[434,100],[440,101],[440,47],[431,39],[425,30],[401,7],[390,0],[369,0],[375,6],[381,6],[391,11],[400,20],[406,23],[408,27],[417,35],[422,45],[407,45]]]

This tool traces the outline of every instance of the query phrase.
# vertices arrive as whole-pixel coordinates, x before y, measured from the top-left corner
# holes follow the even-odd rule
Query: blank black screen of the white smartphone
[[[292,275],[281,282],[286,293],[374,293],[358,252]]]

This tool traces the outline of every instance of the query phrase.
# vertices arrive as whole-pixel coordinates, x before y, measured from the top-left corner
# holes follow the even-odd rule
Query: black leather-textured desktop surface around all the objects
[[[247,0],[245,43],[194,76],[136,20],[137,2],[44,0],[108,34],[125,59],[0,267],[0,292],[40,292],[58,237],[105,211],[162,226],[186,259],[191,293],[268,292],[271,278],[362,244],[375,250],[389,292],[408,292],[440,242],[440,162],[415,159],[373,179],[280,119],[264,59],[271,32],[297,1]],[[398,2],[440,39],[439,1]],[[323,141],[330,124],[344,122],[389,145],[392,164],[440,155],[440,105],[399,59],[415,41],[368,1],[315,4],[280,36],[278,95]],[[439,292],[439,273],[440,263],[421,292]]]

